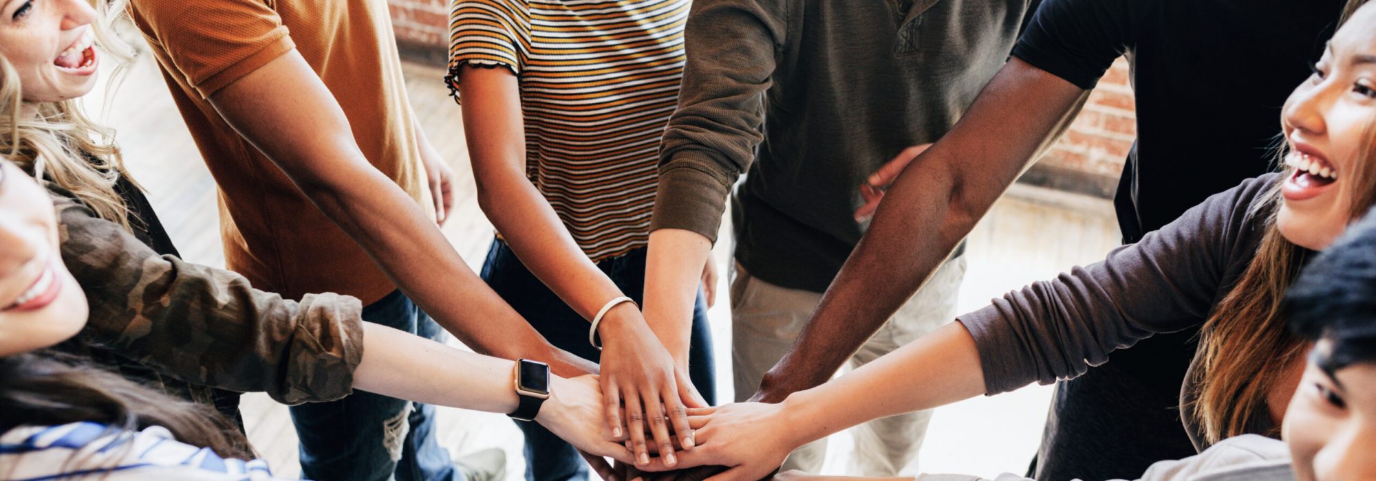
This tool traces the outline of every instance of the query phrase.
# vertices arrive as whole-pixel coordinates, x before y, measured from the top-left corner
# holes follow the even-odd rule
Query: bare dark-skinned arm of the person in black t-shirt
[[[951,132],[916,150],[808,326],[751,400],[777,403],[830,379],[1055,140],[1086,96],[1017,58],[1004,65]]]

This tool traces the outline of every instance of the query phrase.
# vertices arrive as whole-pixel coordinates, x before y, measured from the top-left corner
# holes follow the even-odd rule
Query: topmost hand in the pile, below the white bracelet
[[[692,390],[687,377],[677,374],[669,350],[649,330],[644,316],[633,304],[612,308],[597,328],[604,346],[601,352],[604,415],[612,436],[629,436],[636,465],[645,466],[649,463],[649,449],[645,447],[648,427],[659,456],[667,466],[674,466],[677,463],[674,440],[669,429],[671,425],[684,451],[694,448],[694,433],[688,427],[688,412],[680,393],[684,392],[682,383],[688,383],[688,390],[692,393],[696,390]]]

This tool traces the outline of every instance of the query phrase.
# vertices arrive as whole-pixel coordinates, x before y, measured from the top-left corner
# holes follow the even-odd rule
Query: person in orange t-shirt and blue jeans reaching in
[[[482,353],[566,377],[596,370],[546,342],[436,227],[453,175],[410,110],[384,0],[131,0],[128,12],[220,187],[228,268],[286,298],[355,295],[365,320],[440,335],[429,313]],[[305,477],[461,476],[432,407],[355,393],[292,414]]]

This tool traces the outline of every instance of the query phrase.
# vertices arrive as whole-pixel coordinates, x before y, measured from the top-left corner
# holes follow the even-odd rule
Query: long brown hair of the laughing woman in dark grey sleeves
[[[1343,172],[1343,180],[1354,186],[1353,220],[1376,205],[1376,118],[1362,139],[1364,154]],[[1282,176],[1292,169],[1282,169]],[[1281,301],[1304,264],[1306,250],[1287,240],[1276,227],[1280,197],[1277,181],[1266,201],[1254,206],[1254,216],[1266,219],[1256,256],[1200,331],[1200,363],[1192,379],[1198,399],[1189,408],[1211,444],[1249,433],[1251,419],[1269,408],[1266,394],[1306,346],[1287,328],[1281,315]]]

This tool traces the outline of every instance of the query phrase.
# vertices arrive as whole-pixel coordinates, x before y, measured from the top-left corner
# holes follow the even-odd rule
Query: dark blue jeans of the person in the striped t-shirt
[[[645,249],[597,262],[597,268],[611,278],[623,294],[641,302],[645,295]],[[539,334],[555,346],[583,359],[597,361],[599,350],[588,344],[588,320],[574,312],[549,287],[545,287],[505,242],[493,240],[483,264],[483,280],[512,308],[526,317]],[[692,344],[688,352],[694,386],[716,404],[717,388],[711,357],[711,330],[707,326],[707,304],[702,293],[692,316]],[[526,480],[568,481],[586,480],[588,463],[572,445],[535,422],[516,422],[526,433]]]

